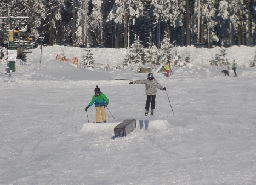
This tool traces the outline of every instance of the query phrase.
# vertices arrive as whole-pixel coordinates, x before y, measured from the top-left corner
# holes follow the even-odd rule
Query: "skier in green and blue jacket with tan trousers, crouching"
[[[85,108],[85,110],[87,111],[87,109],[93,105],[95,105],[96,107],[96,123],[100,123],[100,113],[101,113],[101,117],[102,117],[102,121],[104,123],[107,122],[107,117],[106,117],[106,112],[105,112],[105,107],[107,107],[107,105],[109,105],[109,99],[107,99],[107,96],[104,95],[101,91],[100,88],[98,87],[98,85],[96,86],[96,88],[94,89],[94,93],[95,95],[93,95],[92,101],[89,103],[89,105]]]

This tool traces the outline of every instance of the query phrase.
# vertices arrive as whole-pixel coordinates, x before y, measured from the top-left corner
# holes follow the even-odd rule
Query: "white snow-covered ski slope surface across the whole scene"
[[[116,70],[125,49],[93,48],[95,67],[77,69],[55,56],[82,60],[82,48],[43,47],[42,64],[37,48],[31,65],[16,62],[16,82],[4,82],[2,61],[0,184],[256,184],[256,48],[227,48],[238,77],[209,65],[216,50],[179,47],[192,62],[155,74],[167,91],[148,117],[145,85],[129,85],[147,74]],[[93,123],[94,106],[84,111],[96,85],[110,100],[107,123]],[[126,119],[136,128],[114,138]]]

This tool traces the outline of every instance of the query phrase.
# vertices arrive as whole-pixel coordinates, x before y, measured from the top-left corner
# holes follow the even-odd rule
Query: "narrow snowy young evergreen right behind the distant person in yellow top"
[[[170,39],[167,37],[164,37],[163,41],[161,42],[161,50],[160,50],[160,63],[170,63],[173,59],[173,54],[171,49],[173,48],[173,45],[170,44]]]

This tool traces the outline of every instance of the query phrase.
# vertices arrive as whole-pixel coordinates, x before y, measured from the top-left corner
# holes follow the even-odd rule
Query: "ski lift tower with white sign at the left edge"
[[[15,72],[15,60],[17,56],[17,46],[15,45],[14,39],[20,37],[19,33],[19,19],[27,19],[28,16],[3,16],[0,17],[0,22],[5,23],[5,25],[0,27],[0,33],[2,36],[8,38],[8,62],[10,63],[10,70]]]

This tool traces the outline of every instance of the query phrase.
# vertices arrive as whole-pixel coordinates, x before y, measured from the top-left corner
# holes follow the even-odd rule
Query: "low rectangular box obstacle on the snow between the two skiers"
[[[126,119],[117,125],[114,129],[116,137],[126,137],[127,134],[136,128],[136,119]]]

